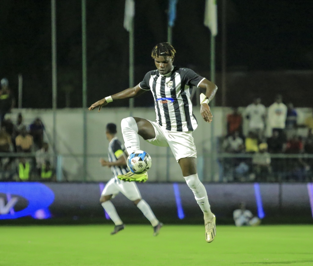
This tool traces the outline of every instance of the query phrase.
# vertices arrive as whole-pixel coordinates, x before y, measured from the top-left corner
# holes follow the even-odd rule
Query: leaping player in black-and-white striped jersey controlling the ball
[[[200,95],[200,113],[204,121],[211,123],[212,114],[208,103],[213,99],[217,86],[191,69],[174,66],[175,53],[170,43],[157,44],[151,53],[156,70],[149,71],[143,81],[135,87],[107,96],[91,105],[89,110],[98,107],[100,112],[101,107],[109,102],[133,98],[148,90],[152,92],[156,111],[155,122],[139,117],[127,117],[121,122],[126,150],[128,154],[140,150],[138,135],[153,145],[171,148],[187,185],[203,211],[205,239],[210,243],[216,234],[215,216],[211,212],[205,187],[197,175],[197,152],[192,131],[198,124],[192,113],[190,87],[196,86],[206,90],[205,95]],[[147,173],[134,175],[129,172],[119,175],[118,178],[144,181],[147,179]]]

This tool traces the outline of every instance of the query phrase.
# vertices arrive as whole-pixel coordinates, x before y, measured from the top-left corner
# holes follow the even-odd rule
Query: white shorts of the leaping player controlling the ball
[[[147,139],[147,142],[156,146],[170,147],[177,162],[179,159],[186,157],[197,158],[197,151],[193,142],[192,131],[168,131],[156,122],[149,122],[154,127],[156,137],[153,139]]]

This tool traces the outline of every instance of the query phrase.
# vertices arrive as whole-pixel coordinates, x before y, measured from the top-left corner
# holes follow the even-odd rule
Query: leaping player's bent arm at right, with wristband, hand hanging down
[[[199,84],[199,88],[205,89],[205,96],[203,98],[200,97],[201,107],[200,113],[205,122],[212,122],[212,113],[210,111],[210,107],[208,103],[213,99],[215,93],[217,91],[217,86],[207,79],[204,79]],[[202,94],[203,95],[203,94]]]

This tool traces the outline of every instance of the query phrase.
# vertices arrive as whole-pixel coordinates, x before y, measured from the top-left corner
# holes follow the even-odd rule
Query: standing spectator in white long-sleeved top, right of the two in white
[[[269,107],[268,122],[272,132],[278,131],[280,135],[284,134],[286,127],[287,106],[283,104],[281,95],[277,95],[275,102]]]

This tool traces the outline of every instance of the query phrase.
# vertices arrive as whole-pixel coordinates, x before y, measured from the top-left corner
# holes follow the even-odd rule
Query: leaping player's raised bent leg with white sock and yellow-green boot
[[[125,142],[125,148],[128,154],[136,150],[140,150],[139,136],[144,139],[155,138],[155,131],[151,123],[143,118],[138,117],[127,117],[122,119],[121,128],[123,133],[123,138]],[[144,173],[137,175],[131,171],[125,175],[118,175],[120,180],[125,181],[140,181],[145,182],[148,179],[148,174]]]

